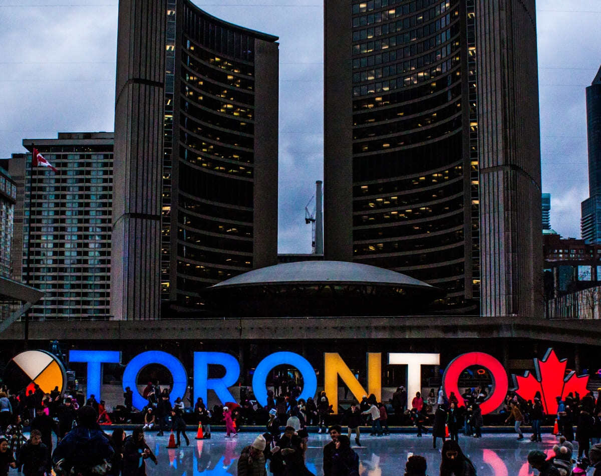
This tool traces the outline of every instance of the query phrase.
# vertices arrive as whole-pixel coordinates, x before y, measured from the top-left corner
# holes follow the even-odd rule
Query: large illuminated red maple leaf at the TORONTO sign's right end
[[[563,400],[572,392],[581,396],[587,394],[588,375],[576,377],[574,371],[565,378],[567,359],[557,358],[555,351],[549,348],[542,360],[534,359],[536,377],[529,371],[523,377],[512,375],[514,392],[524,400],[533,400],[536,392],[540,392],[541,403],[545,413],[557,413],[557,397]]]

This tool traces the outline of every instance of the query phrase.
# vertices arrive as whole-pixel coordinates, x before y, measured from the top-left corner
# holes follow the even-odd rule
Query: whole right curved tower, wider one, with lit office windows
[[[326,259],[444,288],[458,313],[480,312],[480,298],[483,313],[532,312],[533,15],[534,1],[326,0]]]

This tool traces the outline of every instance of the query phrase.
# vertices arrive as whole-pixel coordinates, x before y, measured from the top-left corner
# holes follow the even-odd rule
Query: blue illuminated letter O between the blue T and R
[[[171,377],[173,378],[173,388],[169,394],[169,401],[171,401],[171,404],[175,403],[177,397],[183,398],[186,393],[186,386],[188,385],[188,375],[186,374],[186,369],[182,365],[182,362],[178,361],[178,359],[171,354],[162,352],[162,350],[148,350],[147,352],[136,355],[129,364],[127,364],[127,367],[123,372],[123,390],[128,386],[132,389],[133,406],[138,410],[141,410],[148,403],[148,401],[144,400],[142,395],[140,395],[139,391],[136,391],[138,388],[136,383],[138,382],[138,374],[142,368],[149,364],[163,365],[171,372]]]

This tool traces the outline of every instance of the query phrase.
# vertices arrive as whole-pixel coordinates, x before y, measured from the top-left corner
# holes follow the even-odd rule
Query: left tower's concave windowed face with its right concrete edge
[[[276,37],[177,4],[169,300],[277,260]]]

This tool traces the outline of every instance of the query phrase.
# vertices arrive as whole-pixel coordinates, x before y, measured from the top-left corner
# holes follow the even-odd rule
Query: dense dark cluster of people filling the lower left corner
[[[127,436],[121,428],[108,435],[104,401],[94,395],[61,395],[58,388],[44,394],[38,385],[8,397],[0,391],[0,476],[16,468],[23,476],[88,476],[91,474],[141,476],[145,460],[157,462],[144,441],[142,428]],[[29,438],[23,427],[29,427]],[[56,436],[56,448],[52,445]]]

